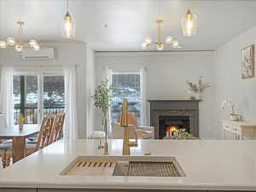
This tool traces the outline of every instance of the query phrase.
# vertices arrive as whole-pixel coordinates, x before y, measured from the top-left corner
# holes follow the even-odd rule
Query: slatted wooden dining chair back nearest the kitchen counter
[[[44,116],[44,119],[41,124],[41,129],[38,134],[38,143],[37,143],[36,150],[39,150],[49,145],[50,133],[53,128],[54,119],[55,119],[55,115],[52,113],[49,113],[46,116]]]

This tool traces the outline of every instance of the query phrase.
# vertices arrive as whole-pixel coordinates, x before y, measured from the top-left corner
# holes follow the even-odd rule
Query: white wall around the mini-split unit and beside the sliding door
[[[77,101],[78,105],[78,126],[79,138],[86,137],[86,44],[76,41],[63,42],[42,42],[42,47],[55,48],[55,60],[49,61],[23,61],[19,53],[16,53],[13,48],[1,49],[0,64],[15,65],[19,70],[30,71],[57,71],[62,70],[62,65],[76,65],[77,68]],[[90,56],[91,57],[91,56]],[[91,65],[91,63],[90,63]]]

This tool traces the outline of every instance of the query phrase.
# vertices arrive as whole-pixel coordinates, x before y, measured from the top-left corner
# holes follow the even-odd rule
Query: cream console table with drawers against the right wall
[[[256,125],[244,121],[222,121],[222,138],[225,139],[225,132],[229,131],[236,134],[236,139],[250,136],[256,139]]]

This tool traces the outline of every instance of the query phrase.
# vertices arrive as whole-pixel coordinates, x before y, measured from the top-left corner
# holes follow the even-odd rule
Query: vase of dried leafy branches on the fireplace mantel
[[[201,99],[201,93],[207,89],[210,88],[212,85],[209,83],[206,83],[203,79],[203,77],[199,77],[199,80],[197,83],[193,83],[190,81],[186,82],[189,85],[189,90],[191,91],[190,99],[192,100],[200,100]]]

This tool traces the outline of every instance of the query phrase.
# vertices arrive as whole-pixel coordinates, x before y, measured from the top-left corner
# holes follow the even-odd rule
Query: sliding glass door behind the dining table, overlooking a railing
[[[45,113],[64,110],[64,76],[15,75],[14,98],[15,124],[21,114],[26,124],[38,124]]]

